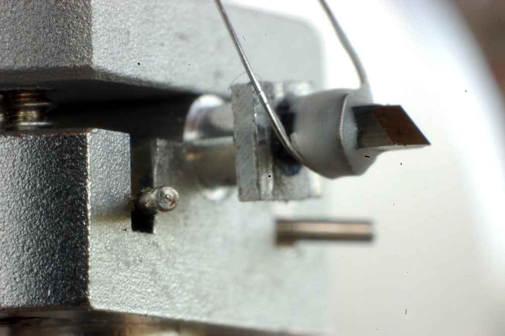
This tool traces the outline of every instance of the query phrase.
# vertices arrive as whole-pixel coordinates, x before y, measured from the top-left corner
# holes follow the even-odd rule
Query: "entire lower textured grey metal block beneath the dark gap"
[[[175,187],[180,204],[142,233],[131,229],[128,135],[32,131],[0,140],[6,318],[72,307],[265,333],[330,328],[326,249],[277,246],[272,205],[240,203],[236,193],[209,200],[181,159],[182,143],[151,143],[153,181]]]

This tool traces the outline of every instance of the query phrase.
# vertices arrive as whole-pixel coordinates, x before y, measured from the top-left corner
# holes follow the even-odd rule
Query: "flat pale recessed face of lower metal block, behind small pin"
[[[183,145],[153,143],[154,183],[180,194],[153,234],[119,224],[90,231],[95,309],[150,314],[269,332],[329,328],[323,246],[278,247],[271,205],[210,201],[181,160]]]

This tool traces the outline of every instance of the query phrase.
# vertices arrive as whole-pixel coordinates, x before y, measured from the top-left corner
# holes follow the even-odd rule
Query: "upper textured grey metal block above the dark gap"
[[[234,6],[227,9],[258,74],[320,84],[320,45],[311,27]],[[72,81],[81,95],[111,92],[126,97],[100,84],[105,81],[228,94],[230,83],[243,72],[210,1],[7,0],[0,2],[0,13],[3,89],[46,86],[58,95],[72,90]],[[266,50],[275,54],[266,56]]]

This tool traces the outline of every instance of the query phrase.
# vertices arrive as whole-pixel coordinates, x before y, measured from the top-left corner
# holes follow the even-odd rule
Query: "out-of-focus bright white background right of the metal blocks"
[[[505,333],[505,110],[476,44],[445,2],[330,5],[376,102],[401,104],[432,142],[324,190],[332,215],[372,218],[377,232],[370,245],[334,247],[336,334]],[[310,20],[323,31],[328,87],[357,86],[317,1],[254,6]]]

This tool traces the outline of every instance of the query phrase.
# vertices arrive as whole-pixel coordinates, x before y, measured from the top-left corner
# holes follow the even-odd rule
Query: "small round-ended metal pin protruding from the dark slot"
[[[179,204],[179,193],[168,185],[156,188],[144,188],[133,197],[133,205],[136,210],[146,215],[154,216],[158,212],[174,210]]]

